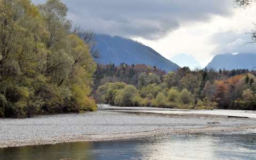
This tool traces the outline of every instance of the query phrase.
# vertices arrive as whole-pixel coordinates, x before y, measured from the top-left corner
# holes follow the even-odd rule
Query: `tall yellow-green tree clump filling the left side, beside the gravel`
[[[97,67],[59,0],[0,1],[0,117],[97,109]]]

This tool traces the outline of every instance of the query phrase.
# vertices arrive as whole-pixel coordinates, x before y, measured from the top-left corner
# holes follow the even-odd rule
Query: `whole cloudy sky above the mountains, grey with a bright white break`
[[[35,4],[45,0],[32,0]],[[256,53],[250,34],[256,7],[233,0],[63,0],[74,25],[97,34],[132,38],[165,58],[193,55],[206,66],[214,55]]]

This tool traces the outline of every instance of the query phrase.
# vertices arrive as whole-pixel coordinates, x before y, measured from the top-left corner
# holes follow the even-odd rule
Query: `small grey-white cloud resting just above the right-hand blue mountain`
[[[256,53],[256,44],[252,44],[251,35],[245,31],[226,31],[212,36],[211,42],[216,44],[213,54],[222,53]]]

